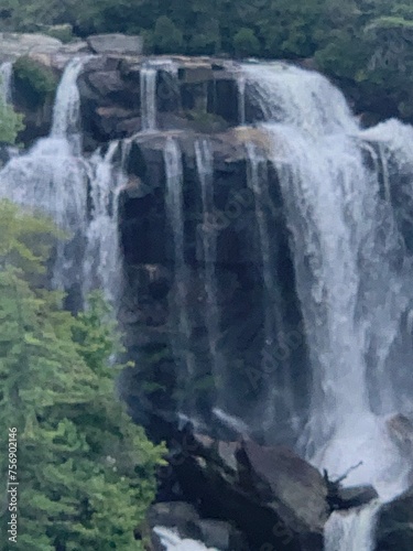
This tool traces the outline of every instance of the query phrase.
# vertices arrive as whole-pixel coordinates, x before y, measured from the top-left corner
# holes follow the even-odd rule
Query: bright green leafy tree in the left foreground
[[[53,226],[0,204],[0,430],[18,429],[19,537],[13,549],[137,549],[133,529],[155,493],[164,449],[113,392],[119,338],[93,294],[76,318],[37,287]],[[4,445],[4,439],[2,439]],[[1,479],[8,479],[0,453]],[[3,485],[4,487],[4,485]],[[10,512],[0,507],[1,533]],[[0,550],[9,550],[2,538]]]

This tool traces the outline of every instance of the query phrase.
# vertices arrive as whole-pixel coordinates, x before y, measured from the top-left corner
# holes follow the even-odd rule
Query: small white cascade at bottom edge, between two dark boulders
[[[374,529],[380,503],[329,517],[324,534],[326,551],[374,551]]]

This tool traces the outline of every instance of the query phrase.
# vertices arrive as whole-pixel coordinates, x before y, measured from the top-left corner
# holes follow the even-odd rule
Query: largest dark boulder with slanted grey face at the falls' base
[[[172,464],[200,514],[235,522],[249,549],[322,551],[326,484],[292,451],[186,434]]]

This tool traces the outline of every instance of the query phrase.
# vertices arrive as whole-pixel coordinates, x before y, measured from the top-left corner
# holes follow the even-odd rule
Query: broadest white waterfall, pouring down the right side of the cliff
[[[268,121],[306,327],[314,382],[302,444],[333,477],[362,461],[346,483],[371,483],[391,499],[405,487],[409,466],[380,415],[403,412],[388,360],[413,293],[392,206],[381,198],[381,174],[365,152],[381,140],[393,162],[399,155],[399,163],[412,163],[411,145],[400,140],[406,131],[391,122],[361,132],[343,95],[316,73],[275,64],[246,66],[244,74],[251,101]],[[387,381],[379,415],[370,403],[369,361],[381,385]],[[363,510],[332,520],[345,532],[351,526],[356,542],[369,541],[365,547],[328,540],[327,551],[370,549],[365,517],[372,519]]]

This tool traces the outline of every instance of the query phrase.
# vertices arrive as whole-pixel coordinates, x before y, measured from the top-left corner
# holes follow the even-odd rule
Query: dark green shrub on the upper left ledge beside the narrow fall
[[[58,78],[53,69],[29,56],[22,56],[14,63],[14,82],[17,87],[24,90],[24,97],[35,108],[54,96]]]

